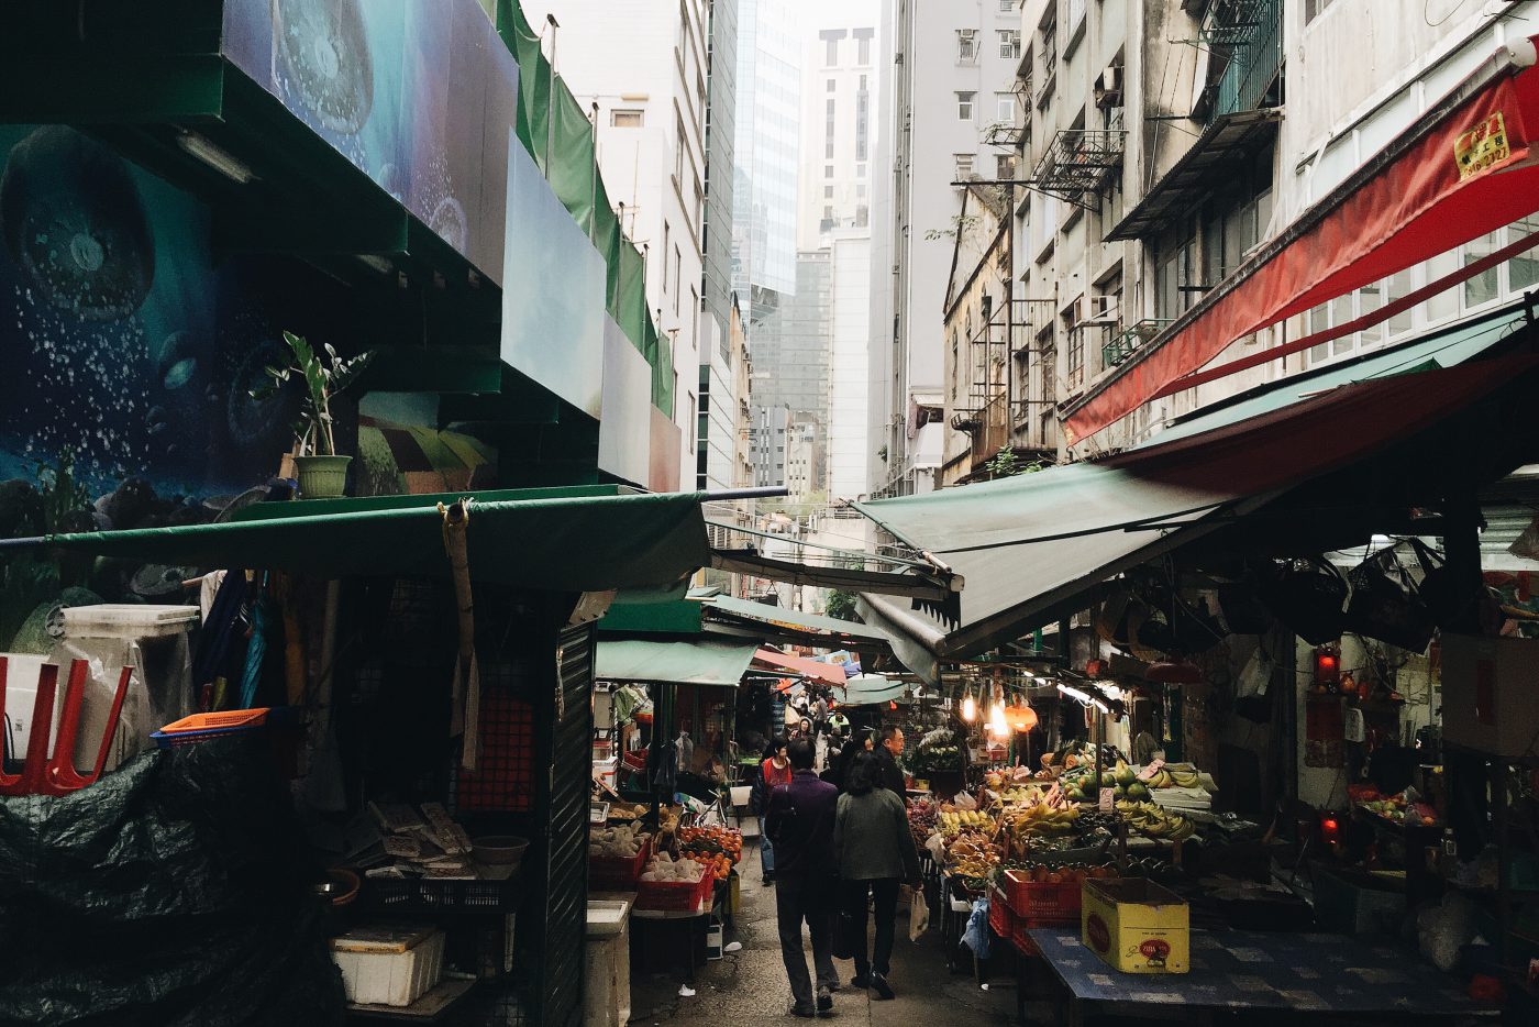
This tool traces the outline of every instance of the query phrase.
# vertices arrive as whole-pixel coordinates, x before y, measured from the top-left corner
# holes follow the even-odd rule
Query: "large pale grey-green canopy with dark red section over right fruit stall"
[[[1531,386],[1539,357],[1488,359],[1328,390],[1211,431],[1096,463],[860,503],[905,544],[966,579],[931,610],[862,596],[863,610],[939,657],[963,657],[1068,613],[1105,579],[1360,462],[1504,385]]]

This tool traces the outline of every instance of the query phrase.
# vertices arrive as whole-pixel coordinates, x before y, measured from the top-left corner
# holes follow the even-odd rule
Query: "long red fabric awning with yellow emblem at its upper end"
[[[1508,66],[1474,95],[1434,109],[1071,411],[1070,443],[1245,336],[1539,211],[1536,139],[1536,68]]]

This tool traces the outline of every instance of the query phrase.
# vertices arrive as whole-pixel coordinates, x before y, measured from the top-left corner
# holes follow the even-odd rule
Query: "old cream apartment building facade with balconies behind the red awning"
[[[1023,194],[1010,285],[1028,305],[997,390],[1014,403],[1011,447],[1114,453],[1285,377],[1477,322],[1539,283],[1522,219],[1176,356],[1270,262],[1297,260],[1288,243],[1373,188],[1430,119],[1522,66],[1536,6],[1387,20],[1373,0],[1027,0],[1020,119],[1002,135]],[[1188,388],[1165,380],[1203,366]],[[948,390],[970,374],[957,360]],[[974,443],[966,430],[953,451]]]

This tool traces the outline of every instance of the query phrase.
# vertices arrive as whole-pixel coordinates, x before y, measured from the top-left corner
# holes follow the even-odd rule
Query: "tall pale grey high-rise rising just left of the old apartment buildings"
[[[1073,3],[1070,6],[1074,6]],[[1083,6],[1083,5],[1079,5]],[[893,55],[882,89],[873,212],[880,333],[871,360],[873,493],[928,491],[940,470],[943,305],[962,189],[1013,179],[1016,152],[991,143],[1017,125],[1019,0],[888,0]]]

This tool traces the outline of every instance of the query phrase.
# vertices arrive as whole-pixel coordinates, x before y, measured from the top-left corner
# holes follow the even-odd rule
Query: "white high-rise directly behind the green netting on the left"
[[[599,166],[622,229],[646,253],[646,305],[673,345],[674,423],[686,480],[697,463],[705,282],[705,0],[546,0],[556,71],[597,103]],[[546,29],[553,31],[553,29]],[[546,46],[546,52],[549,52]],[[679,482],[683,487],[686,482]]]

